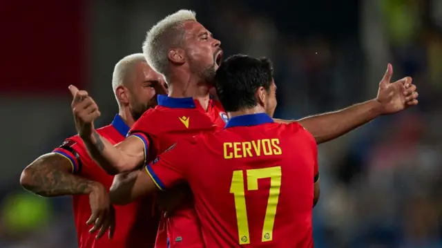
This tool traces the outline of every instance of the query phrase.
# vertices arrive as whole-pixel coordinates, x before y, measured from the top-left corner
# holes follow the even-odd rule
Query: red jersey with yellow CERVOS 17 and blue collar
[[[188,182],[206,247],[313,247],[317,146],[300,124],[242,115],[146,166],[160,189]]]

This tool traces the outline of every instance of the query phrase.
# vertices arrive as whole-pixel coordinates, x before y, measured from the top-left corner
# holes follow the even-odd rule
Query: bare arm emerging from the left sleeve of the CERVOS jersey
[[[145,170],[146,168],[144,167],[137,171],[115,176],[109,191],[111,202],[117,205],[124,205],[133,202],[142,195],[159,190]]]

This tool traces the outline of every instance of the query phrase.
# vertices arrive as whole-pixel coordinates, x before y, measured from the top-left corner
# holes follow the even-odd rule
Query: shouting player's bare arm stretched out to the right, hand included
[[[392,74],[393,68],[388,64],[387,72],[379,84],[376,99],[340,111],[305,117],[298,120],[299,124],[315,137],[316,143],[320,144],[334,140],[380,115],[396,113],[417,105],[419,94],[416,92],[416,86],[412,84],[412,78],[404,77],[390,84]],[[276,122],[291,121],[276,120]]]

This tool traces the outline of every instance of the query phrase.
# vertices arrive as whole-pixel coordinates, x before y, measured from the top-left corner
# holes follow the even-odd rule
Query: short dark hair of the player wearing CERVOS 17
[[[222,62],[215,75],[218,98],[228,112],[256,106],[256,90],[262,86],[269,92],[272,81],[273,65],[266,57],[233,55]]]

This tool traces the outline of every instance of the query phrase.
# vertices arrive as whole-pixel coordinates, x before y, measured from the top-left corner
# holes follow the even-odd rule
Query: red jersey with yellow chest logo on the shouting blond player
[[[130,133],[144,142],[148,163],[178,140],[222,129],[226,122],[227,115],[218,101],[210,100],[208,109],[204,110],[193,98],[158,95],[158,105],[146,111]],[[173,216],[162,219],[155,247],[202,247],[200,223],[188,186],[175,187],[167,195],[183,197],[186,201]]]

